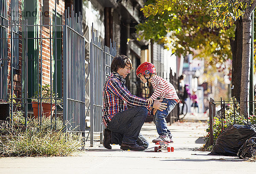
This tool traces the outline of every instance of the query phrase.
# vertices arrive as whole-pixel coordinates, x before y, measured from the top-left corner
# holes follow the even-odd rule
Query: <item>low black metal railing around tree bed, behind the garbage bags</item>
[[[224,125],[224,120],[226,119],[226,114],[225,114],[225,110],[227,106],[233,106],[233,121],[234,121],[234,125],[236,124],[236,114],[239,114],[239,112],[237,111],[237,105],[240,104],[241,102],[246,102],[247,106],[252,104],[255,105],[256,101],[236,101],[236,99],[233,97],[232,100],[230,101],[225,101],[222,98],[220,99],[220,101],[215,101],[214,99],[210,98],[209,101],[209,137],[210,137],[210,142],[209,145],[213,145],[214,144],[214,130],[213,130],[213,125],[214,125],[214,120],[213,117],[219,116],[221,119],[221,130],[223,130],[223,125]],[[221,109],[217,111],[216,114],[216,106],[220,105]],[[230,107],[231,108],[231,107]],[[247,112],[246,115],[244,116],[246,119],[246,123],[249,123],[249,113]],[[226,121],[225,121],[226,122]]]

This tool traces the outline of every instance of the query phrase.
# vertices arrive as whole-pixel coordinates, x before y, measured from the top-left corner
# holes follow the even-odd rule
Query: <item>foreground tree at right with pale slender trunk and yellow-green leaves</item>
[[[208,3],[209,16],[211,20],[208,26],[226,27],[231,26],[239,17],[242,17],[243,24],[243,50],[241,67],[241,92],[240,100],[247,101],[249,98],[249,73],[250,73],[250,53],[252,38],[251,14],[256,7],[256,0],[212,0]],[[247,104],[241,102],[240,113],[246,115]]]

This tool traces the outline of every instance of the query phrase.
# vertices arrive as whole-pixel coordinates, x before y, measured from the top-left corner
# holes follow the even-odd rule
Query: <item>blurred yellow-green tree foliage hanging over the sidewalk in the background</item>
[[[235,26],[229,28],[209,28],[207,22],[210,17],[205,15],[206,0],[151,0],[147,1],[142,12],[146,17],[144,23],[137,26],[141,38],[153,39],[159,44],[165,44],[176,55],[186,55],[188,52],[194,54],[199,52],[197,57],[207,60],[211,66],[223,64],[227,59],[232,58]],[[220,66],[221,67],[221,66]],[[239,67],[238,67],[239,68]],[[241,72],[240,70],[236,72]],[[233,71],[232,70],[232,71]],[[236,77],[239,79],[239,76]],[[239,86],[240,80],[237,81]],[[239,91],[240,92],[240,91]],[[238,92],[238,96],[239,93]]]

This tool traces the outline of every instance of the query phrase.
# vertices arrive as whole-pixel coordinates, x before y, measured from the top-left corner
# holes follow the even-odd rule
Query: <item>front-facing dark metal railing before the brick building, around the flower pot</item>
[[[0,50],[0,63],[3,65],[3,68],[1,67],[0,70],[0,83],[3,85],[0,90],[0,101],[9,101],[10,103],[11,114],[9,120],[11,125],[13,122],[13,116],[15,115],[15,109],[23,113],[25,128],[27,126],[28,117],[33,115],[35,116],[35,112],[32,113],[32,104],[34,103],[37,105],[38,124],[41,125],[42,116],[44,115],[42,105],[45,103],[49,103],[51,107],[54,105],[56,106],[57,103],[61,105],[62,102],[60,101],[63,99],[62,97],[57,97],[56,90],[57,86],[62,86],[62,77],[60,77],[60,83],[57,83],[56,77],[56,72],[62,72],[62,68],[57,69],[56,62],[60,61],[62,64],[63,61],[62,49],[59,51],[61,58],[58,59],[56,56],[57,40],[61,40],[61,42],[63,40],[62,35],[61,37],[56,36],[56,28],[61,28],[61,31],[59,32],[62,32],[64,25],[51,25],[50,17],[49,25],[43,25],[42,12],[38,13],[39,22],[28,24],[26,19],[20,18],[22,16],[22,11],[20,9],[21,6],[19,4],[20,1],[11,0],[9,9],[7,9],[5,2],[6,1],[1,1],[0,4],[0,43],[4,48]],[[11,17],[8,18],[5,16],[7,12]],[[46,27],[49,29],[47,36],[44,35]],[[3,29],[5,30],[4,32],[2,32]],[[30,35],[28,35],[28,33],[30,33]],[[52,37],[53,33],[55,33],[54,37]],[[29,44],[30,42],[33,44]],[[6,43],[10,44],[6,45]],[[49,43],[49,45],[45,43]],[[52,43],[55,44],[52,45]],[[43,51],[43,49],[49,49],[48,56],[46,55],[48,50]],[[7,54],[10,55],[9,58],[7,58]],[[48,63],[49,65],[46,67],[46,64]],[[29,73],[29,71],[31,73]],[[49,77],[48,74],[46,75],[48,71]],[[55,74],[55,77],[53,77],[53,74]],[[43,96],[42,94],[42,88],[44,84],[46,84],[44,82],[46,81],[44,78],[48,79],[50,86],[49,88],[51,91],[49,96]],[[55,88],[54,91],[53,88]],[[17,91],[17,96],[15,95],[14,90]],[[61,95],[61,93],[59,95]],[[32,99],[36,100],[36,102],[32,102]],[[62,112],[61,108],[59,108],[58,111]],[[54,123],[52,122],[54,118],[56,128],[57,109],[55,109],[55,111],[50,111],[50,115],[53,113],[55,113],[55,117],[50,116],[51,126],[54,126]]]

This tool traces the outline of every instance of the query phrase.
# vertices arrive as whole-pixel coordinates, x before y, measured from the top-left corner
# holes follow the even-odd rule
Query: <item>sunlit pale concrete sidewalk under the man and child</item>
[[[189,118],[189,115],[187,116]],[[174,152],[154,152],[152,139],[157,137],[154,123],[145,123],[142,133],[150,141],[145,151],[122,151],[119,145],[105,149],[99,142],[71,157],[5,157],[0,158],[0,174],[254,174],[255,162],[238,157],[210,156],[196,151],[204,145],[207,123],[198,120],[175,122],[169,126],[173,134]]]

